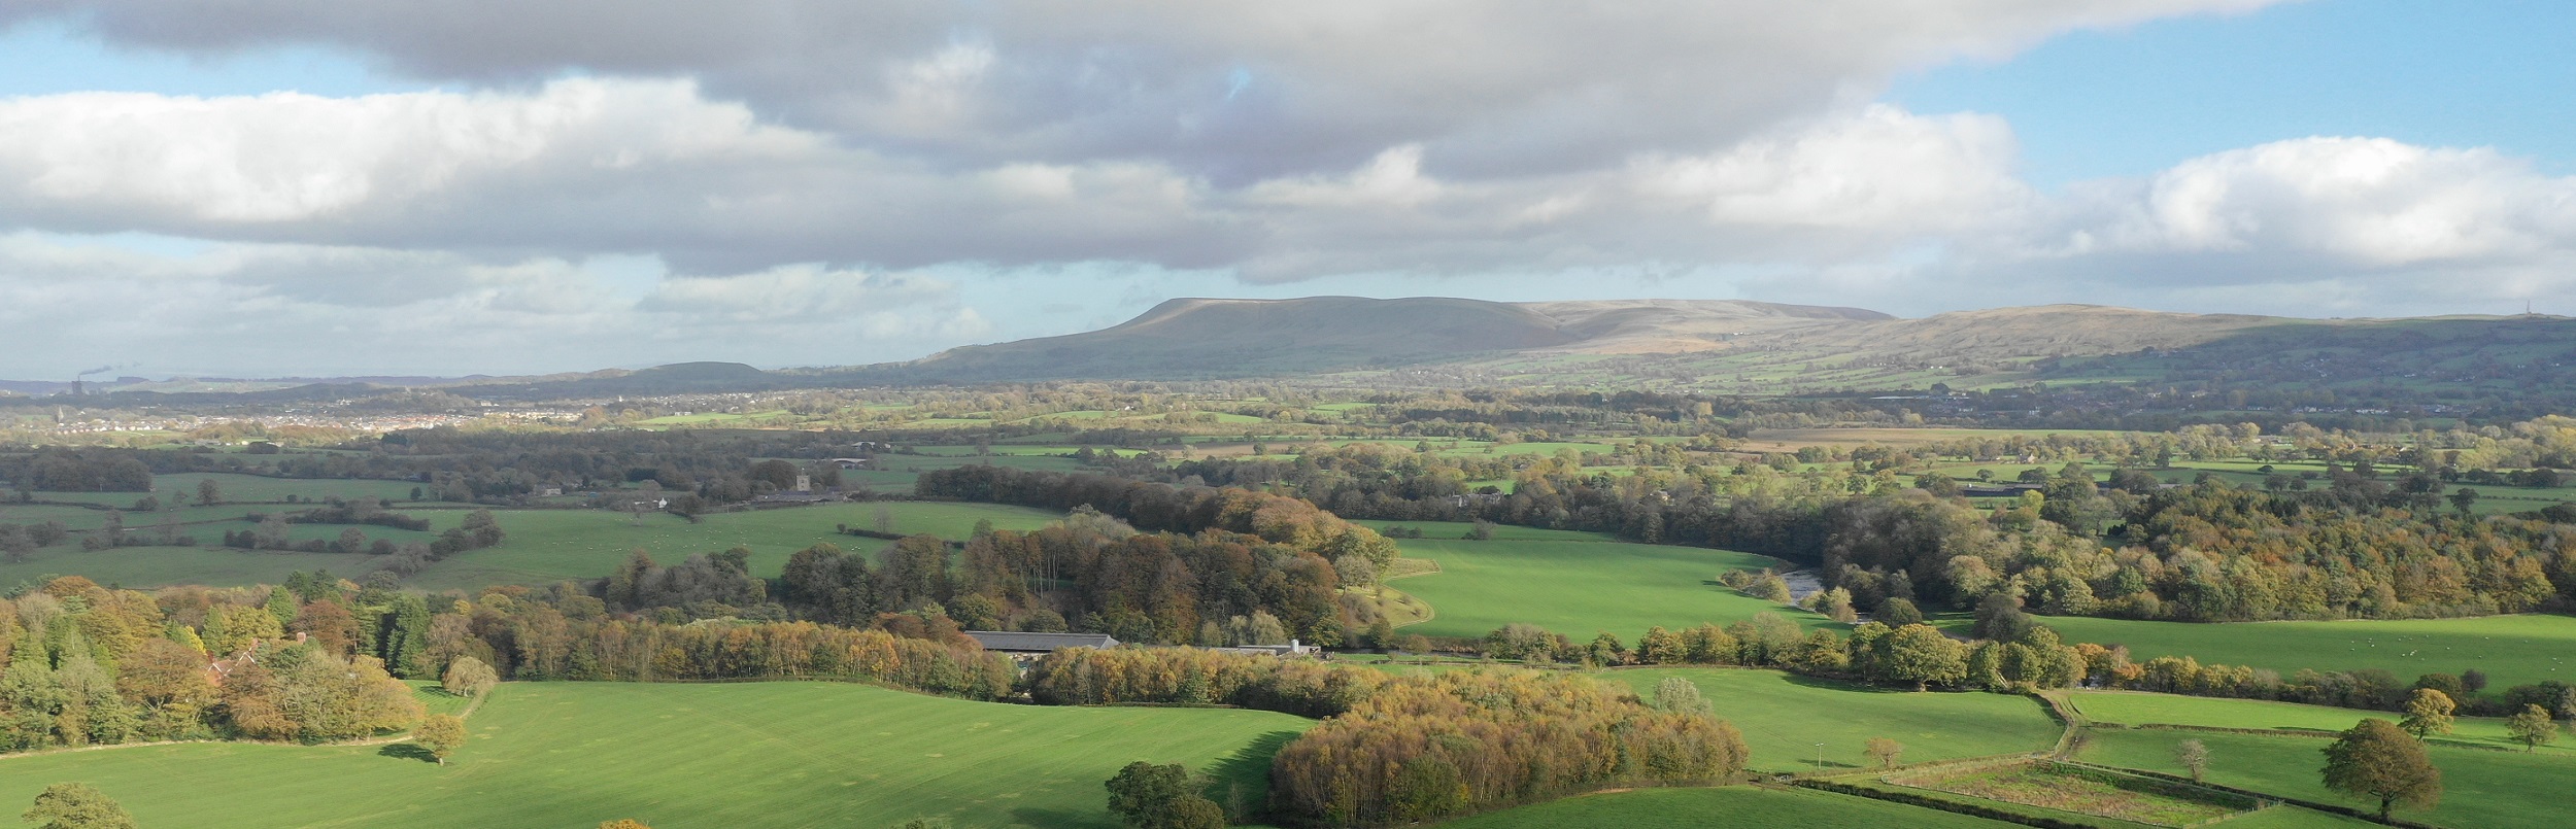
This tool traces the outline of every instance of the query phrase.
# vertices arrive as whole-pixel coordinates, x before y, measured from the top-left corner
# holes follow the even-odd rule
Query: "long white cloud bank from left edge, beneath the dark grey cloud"
[[[0,142],[0,221],[21,227],[641,252],[701,273],[1126,260],[1309,278],[1801,257],[1783,227],[1829,234],[1808,247],[1842,255],[1855,234],[1958,229],[2022,196],[1999,121],[1886,106],[1600,170],[1448,180],[1425,170],[1422,144],[1401,144],[1347,172],[1244,188],[1157,162],[935,170],[762,124],[683,80],[363,98],[72,93],[0,100],[0,131],[15,136]]]

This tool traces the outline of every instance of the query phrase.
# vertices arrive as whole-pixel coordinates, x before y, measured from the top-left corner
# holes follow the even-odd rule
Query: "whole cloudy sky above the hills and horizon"
[[[920,358],[1175,296],[2576,314],[2576,5],[0,5],[0,378]]]

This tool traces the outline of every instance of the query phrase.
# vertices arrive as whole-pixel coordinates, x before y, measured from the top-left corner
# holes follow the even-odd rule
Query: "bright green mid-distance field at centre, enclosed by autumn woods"
[[[1453,541],[1450,528],[1463,533],[1466,525],[1409,525],[1450,541],[1396,541],[1404,556],[1440,561],[1437,574],[1394,582],[1432,605],[1432,618],[1404,633],[1484,636],[1507,623],[1533,623],[1574,638],[1610,631],[1636,644],[1651,626],[1723,626],[1762,610],[1811,628],[1832,626],[1716,584],[1728,569],[1783,566],[1767,556],[1530,528],[1494,528],[1494,541]]]

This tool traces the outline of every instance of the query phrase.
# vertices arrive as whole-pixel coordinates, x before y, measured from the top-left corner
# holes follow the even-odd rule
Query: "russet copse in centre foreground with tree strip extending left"
[[[1066,649],[1038,659],[1046,705],[1242,705],[1324,718],[1270,765],[1273,819],[1394,826],[1620,785],[1744,772],[1744,736],[1690,695],[1641,700],[1582,675],[1365,667],[1198,649]]]

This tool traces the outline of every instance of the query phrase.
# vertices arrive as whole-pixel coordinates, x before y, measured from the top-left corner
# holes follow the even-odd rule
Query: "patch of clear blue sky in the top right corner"
[[[2004,116],[2040,188],[2303,136],[2494,147],[2566,175],[2571,41],[2566,0],[2313,0],[2079,31],[1899,77],[1886,100]]]

